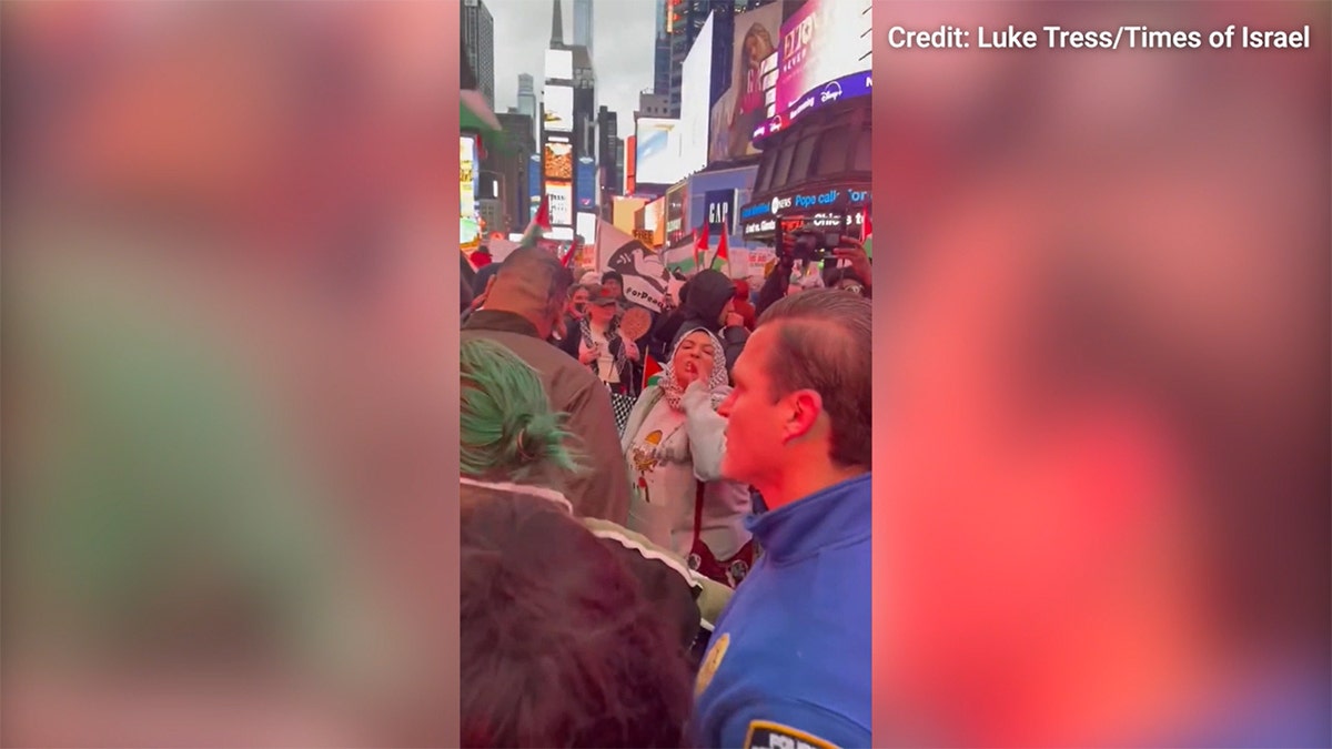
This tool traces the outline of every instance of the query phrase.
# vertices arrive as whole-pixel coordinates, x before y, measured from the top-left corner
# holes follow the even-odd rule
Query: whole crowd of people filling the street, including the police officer
[[[638,339],[614,272],[476,269],[464,745],[870,744],[868,260],[836,259],[753,301],[697,272]]]

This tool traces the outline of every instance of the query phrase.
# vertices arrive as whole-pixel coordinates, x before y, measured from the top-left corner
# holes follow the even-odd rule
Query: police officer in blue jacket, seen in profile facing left
[[[758,489],[763,549],[699,669],[701,746],[870,746],[871,312],[783,299],[733,372],[722,472]]]

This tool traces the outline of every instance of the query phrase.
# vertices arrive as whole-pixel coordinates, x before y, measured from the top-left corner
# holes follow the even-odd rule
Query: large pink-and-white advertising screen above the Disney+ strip
[[[874,67],[870,44],[870,0],[805,3],[782,24],[777,113],[795,116],[805,95],[846,76],[868,72]],[[835,93],[829,93],[836,100]]]

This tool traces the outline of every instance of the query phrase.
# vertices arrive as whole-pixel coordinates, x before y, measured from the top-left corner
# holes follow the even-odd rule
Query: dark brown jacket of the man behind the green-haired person
[[[610,392],[577,359],[537,337],[537,328],[519,315],[480,309],[462,327],[462,340],[486,339],[518,355],[541,374],[550,405],[569,414],[570,449],[585,456],[581,473],[559,476],[561,489],[579,517],[629,521],[629,473],[619,452],[619,434]]]

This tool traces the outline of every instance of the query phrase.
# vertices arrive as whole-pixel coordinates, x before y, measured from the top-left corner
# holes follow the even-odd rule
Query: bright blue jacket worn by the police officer
[[[698,673],[699,746],[870,746],[870,474],[747,520],[763,549]]]

